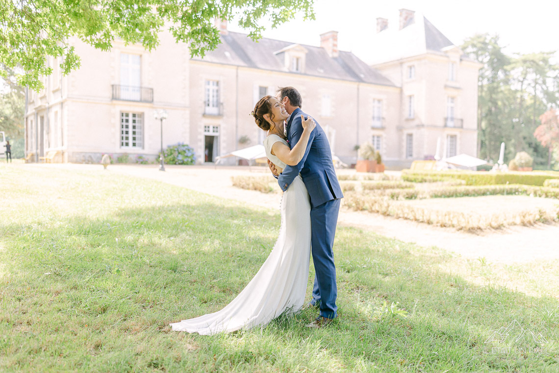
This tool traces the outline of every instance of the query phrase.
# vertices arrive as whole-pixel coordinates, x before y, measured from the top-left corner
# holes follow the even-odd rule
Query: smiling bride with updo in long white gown
[[[252,112],[259,128],[267,131],[266,155],[281,173],[286,165],[296,166],[303,158],[316,124],[301,115],[303,133],[290,149],[283,136],[283,122],[289,116],[276,97],[265,96]],[[297,176],[283,193],[280,235],[272,252],[247,287],[225,308],[197,318],[170,324],[173,330],[204,335],[233,332],[266,325],[284,312],[295,313],[305,302],[309,278],[311,219],[309,193]]]

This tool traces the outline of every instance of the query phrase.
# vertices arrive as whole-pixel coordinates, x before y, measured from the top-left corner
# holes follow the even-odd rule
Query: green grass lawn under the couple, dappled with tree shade
[[[276,240],[278,209],[100,166],[0,164],[0,187],[2,372],[559,371],[557,261],[499,266],[338,228],[335,324],[305,328],[306,310],[198,336],[168,323],[243,289]],[[484,343],[514,319],[548,343],[515,342],[515,330]],[[512,350],[485,353],[497,346]]]

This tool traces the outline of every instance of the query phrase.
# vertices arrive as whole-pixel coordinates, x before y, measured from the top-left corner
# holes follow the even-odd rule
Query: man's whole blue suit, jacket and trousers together
[[[297,144],[303,133],[301,114],[307,117],[300,108],[296,108],[287,123],[287,141],[291,148]],[[299,173],[311,200],[311,252],[315,267],[311,303],[320,302],[320,315],[332,319],[337,316],[338,309],[332,247],[343,194],[334,171],[328,139],[318,122],[311,132],[301,162],[297,166],[287,166],[278,177],[278,184],[282,190],[287,190]]]

